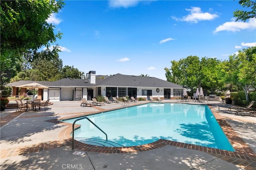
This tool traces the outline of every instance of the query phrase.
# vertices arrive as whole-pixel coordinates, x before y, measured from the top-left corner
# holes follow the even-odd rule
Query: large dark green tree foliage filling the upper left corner
[[[64,6],[62,0],[1,0],[0,89],[19,71],[24,53],[49,46],[62,33],[46,20]]]

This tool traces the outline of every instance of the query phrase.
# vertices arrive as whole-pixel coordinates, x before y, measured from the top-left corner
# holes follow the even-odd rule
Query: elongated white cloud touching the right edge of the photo
[[[219,31],[241,31],[242,29],[256,29],[256,18],[250,18],[248,22],[242,21],[232,21],[225,22],[219,25],[213,32],[217,33]]]

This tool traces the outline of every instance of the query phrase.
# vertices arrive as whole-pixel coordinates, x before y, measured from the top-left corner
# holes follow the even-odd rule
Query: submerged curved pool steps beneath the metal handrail
[[[89,145],[96,145],[100,147],[124,147],[123,145],[120,145],[113,141],[106,141],[103,139],[95,139],[95,138],[83,138],[83,137],[75,137],[76,141],[86,143]]]

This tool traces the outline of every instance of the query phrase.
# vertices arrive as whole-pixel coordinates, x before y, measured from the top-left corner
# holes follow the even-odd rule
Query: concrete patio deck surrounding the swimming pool
[[[173,102],[176,100],[164,100]],[[129,106],[147,102],[130,103]],[[122,107],[122,104],[105,104],[97,107],[80,107],[77,101],[54,102],[48,110],[15,112],[1,111],[1,169],[152,169],[152,170],[239,170],[256,169],[256,117],[235,115],[228,111],[231,105],[209,101],[180,102],[187,104],[210,104],[216,119],[222,119],[229,131],[242,139],[244,153],[234,155],[209,153],[188,149],[184,145],[165,144],[156,149],[140,152],[106,153],[86,151],[70,145],[70,125],[56,123],[56,119],[92,114]],[[220,111],[219,111],[220,109]],[[222,125],[223,126],[223,125]],[[223,127],[222,127],[223,128]],[[226,132],[225,130],[224,132]],[[227,134],[226,134],[227,135]],[[158,142],[159,143],[159,142]],[[236,144],[236,145],[239,145]],[[142,148],[142,147],[141,147]],[[72,154],[74,151],[83,155]],[[247,155],[247,156],[244,156]],[[244,157],[243,157],[244,156]]]

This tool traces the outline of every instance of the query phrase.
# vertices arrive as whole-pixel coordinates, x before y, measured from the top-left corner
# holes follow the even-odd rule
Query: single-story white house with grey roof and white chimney
[[[115,74],[104,79],[96,78],[96,71],[90,71],[85,79],[63,78],[54,82],[26,81],[12,82],[5,86],[12,87],[12,96],[21,96],[27,92],[26,88],[17,88],[24,84],[37,82],[49,89],[38,89],[38,98],[51,101],[91,100],[98,95],[112,97],[134,96],[134,98],[148,98],[160,96],[162,99],[176,99],[183,95],[183,87],[148,76],[133,76]]]

